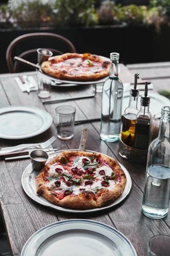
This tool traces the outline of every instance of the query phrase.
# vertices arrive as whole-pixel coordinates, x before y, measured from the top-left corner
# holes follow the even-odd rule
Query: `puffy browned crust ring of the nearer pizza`
[[[85,156],[94,158],[99,157],[100,159],[105,160],[105,162],[111,166],[112,168],[116,169],[116,172],[119,173],[121,176],[121,181],[117,183],[113,190],[109,190],[107,188],[99,189],[97,192],[97,200],[95,200],[95,194],[92,191],[81,191],[79,192],[78,196],[65,196],[63,199],[59,200],[57,198],[57,194],[51,191],[45,184],[44,184],[44,176],[45,172],[48,171],[51,165],[58,162],[61,157],[71,157],[71,156]],[[92,209],[96,207],[102,207],[104,205],[110,204],[119,195],[122,195],[122,192],[125,188],[126,184],[126,176],[123,172],[122,168],[120,167],[119,163],[116,160],[113,160],[110,157],[104,156],[98,153],[89,153],[85,151],[63,151],[62,154],[57,155],[56,157],[52,158],[50,162],[40,171],[40,174],[36,177],[36,184],[37,184],[37,194],[41,194],[44,198],[50,201],[53,204],[57,204],[61,207],[68,207],[68,208],[77,208],[77,209]]]

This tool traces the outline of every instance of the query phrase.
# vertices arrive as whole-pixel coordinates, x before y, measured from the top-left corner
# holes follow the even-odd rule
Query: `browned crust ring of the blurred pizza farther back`
[[[91,73],[88,74],[87,72],[85,74],[81,75],[70,75],[65,70],[54,70],[51,65],[56,64],[60,61],[68,60],[69,58],[82,58],[82,60],[88,59],[90,61],[98,61],[104,65],[105,68],[101,70],[100,72]],[[79,68],[79,67],[78,67]],[[48,61],[44,61],[41,64],[41,69],[45,73],[47,73],[50,76],[56,77],[58,79],[65,79],[65,80],[71,80],[71,81],[94,81],[97,79],[102,79],[103,77],[106,77],[109,75],[110,71],[110,63],[108,61],[104,61],[102,58],[100,58],[97,55],[92,55],[90,53],[85,54],[78,54],[78,53],[65,53],[60,56],[51,57]]]

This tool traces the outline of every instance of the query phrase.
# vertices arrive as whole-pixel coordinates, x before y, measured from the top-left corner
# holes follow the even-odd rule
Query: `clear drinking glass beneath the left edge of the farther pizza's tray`
[[[46,78],[40,72],[37,72],[37,80],[38,80],[38,96],[40,98],[48,98],[51,96],[51,79]]]

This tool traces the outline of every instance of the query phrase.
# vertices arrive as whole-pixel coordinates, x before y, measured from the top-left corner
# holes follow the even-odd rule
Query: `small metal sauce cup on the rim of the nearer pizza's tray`
[[[45,166],[45,163],[47,162],[48,157],[49,156],[47,152],[43,150],[33,150],[30,153],[32,168],[36,171],[39,171],[40,169],[42,169],[42,167]]]

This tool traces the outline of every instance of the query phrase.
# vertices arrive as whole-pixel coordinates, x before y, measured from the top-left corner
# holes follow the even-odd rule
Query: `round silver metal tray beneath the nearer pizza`
[[[72,150],[78,150],[78,149],[70,149],[70,150],[72,151]],[[68,150],[57,151],[53,156],[55,156],[56,154],[60,154],[62,151],[68,151]],[[91,150],[85,150],[85,151],[98,153],[96,151],[91,151]],[[105,155],[105,154],[103,154],[103,155]],[[131,189],[131,186],[132,186],[132,180],[130,178],[129,173],[127,172],[127,169],[124,166],[122,166],[121,163],[119,163],[119,164],[122,167],[123,171],[125,172],[125,175],[126,175],[126,178],[127,178],[125,189],[123,190],[122,195],[120,195],[115,201],[113,201],[113,203],[111,203],[107,206],[104,206],[104,207],[100,207],[100,208],[71,209],[71,208],[66,208],[66,207],[60,207],[58,205],[52,204],[51,202],[46,200],[42,195],[37,195],[35,177],[37,177],[39,172],[32,169],[31,163],[24,170],[21,182],[22,182],[22,186],[23,186],[23,189],[26,192],[26,194],[32,200],[36,201],[38,204],[41,204],[43,206],[50,207],[52,209],[56,209],[56,210],[59,210],[59,211],[62,211],[62,212],[78,212],[78,213],[98,212],[98,211],[102,211],[104,209],[108,209],[108,208],[111,208],[111,207],[119,204],[120,202],[122,202],[127,197],[127,195],[130,192],[130,189]]]

